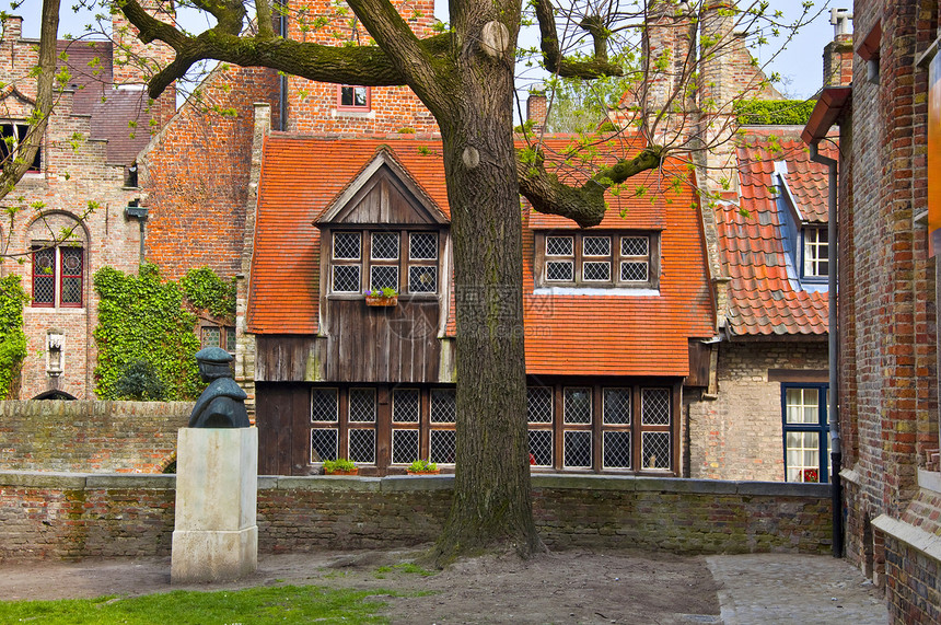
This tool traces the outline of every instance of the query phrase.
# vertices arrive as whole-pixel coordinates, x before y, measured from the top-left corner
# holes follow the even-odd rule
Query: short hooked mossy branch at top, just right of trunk
[[[607,60],[607,30],[601,24],[600,18],[585,18],[579,24],[594,39],[594,57],[571,59],[564,57],[559,49],[559,35],[551,0],[536,0],[535,9],[536,19],[539,22],[539,48],[543,50],[543,61],[548,71],[562,78],[586,80],[624,73],[620,66]],[[600,49],[604,49],[603,55],[599,55]]]

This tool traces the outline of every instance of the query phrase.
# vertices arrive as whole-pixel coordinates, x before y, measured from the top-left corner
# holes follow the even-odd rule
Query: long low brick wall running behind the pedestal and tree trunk
[[[0,471],[0,559],[167,555],[174,476]],[[262,553],[434,540],[451,477],[262,477]],[[826,553],[821,485],[535,475],[534,513],[554,548]],[[676,519],[683,519],[677,523]]]

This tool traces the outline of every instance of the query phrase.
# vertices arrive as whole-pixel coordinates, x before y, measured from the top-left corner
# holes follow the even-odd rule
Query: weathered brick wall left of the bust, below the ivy
[[[187,402],[0,402],[0,468],[160,473]]]

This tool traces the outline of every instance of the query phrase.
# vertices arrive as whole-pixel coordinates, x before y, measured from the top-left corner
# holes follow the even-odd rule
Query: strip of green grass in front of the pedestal
[[[367,599],[385,590],[329,590],[282,586],[198,592],[175,590],[131,598],[0,602],[0,623],[43,625],[267,625],[274,623],[387,623],[385,603]]]

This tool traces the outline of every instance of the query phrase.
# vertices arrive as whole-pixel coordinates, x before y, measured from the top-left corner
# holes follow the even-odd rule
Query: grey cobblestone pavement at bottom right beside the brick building
[[[859,569],[832,556],[708,556],[719,583],[723,625],[884,625],[882,591]]]

